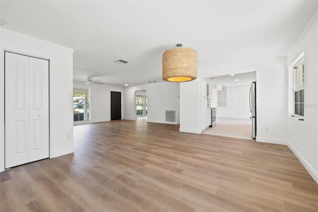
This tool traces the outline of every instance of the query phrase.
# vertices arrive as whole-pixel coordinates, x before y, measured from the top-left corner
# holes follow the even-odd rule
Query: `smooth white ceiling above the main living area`
[[[131,86],[162,82],[162,53],[177,43],[198,52],[198,72],[285,56],[317,7],[317,0],[1,0],[0,19],[3,28],[75,49],[74,81]]]

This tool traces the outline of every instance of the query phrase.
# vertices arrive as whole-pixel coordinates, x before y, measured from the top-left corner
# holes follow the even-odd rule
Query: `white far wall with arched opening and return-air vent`
[[[136,120],[135,91],[138,90],[147,91],[147,121],[173,124],[180,122],[179,83],[168,82],[124,88],[123,119]],[[165,121],[165,110],[176,110],[176,122]]]

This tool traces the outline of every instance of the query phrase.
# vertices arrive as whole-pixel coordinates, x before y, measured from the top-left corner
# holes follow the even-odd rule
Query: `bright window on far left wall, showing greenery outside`
[[[73,117],[74,121],[89,120],[89,90],[73,89]]]

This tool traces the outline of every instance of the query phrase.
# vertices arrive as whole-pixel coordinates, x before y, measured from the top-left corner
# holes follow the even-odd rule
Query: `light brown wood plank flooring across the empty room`
[[[0,211],[318,211],[318,184],[287,146],[178,129],[74,126],[74,154],[0,173]]]

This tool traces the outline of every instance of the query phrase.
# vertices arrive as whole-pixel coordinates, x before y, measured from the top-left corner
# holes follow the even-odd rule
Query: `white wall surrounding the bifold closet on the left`
[[[4,170],[4,50],[50,60],[50,157],[73,152],[73,49],[0,28],[0,171]]]

